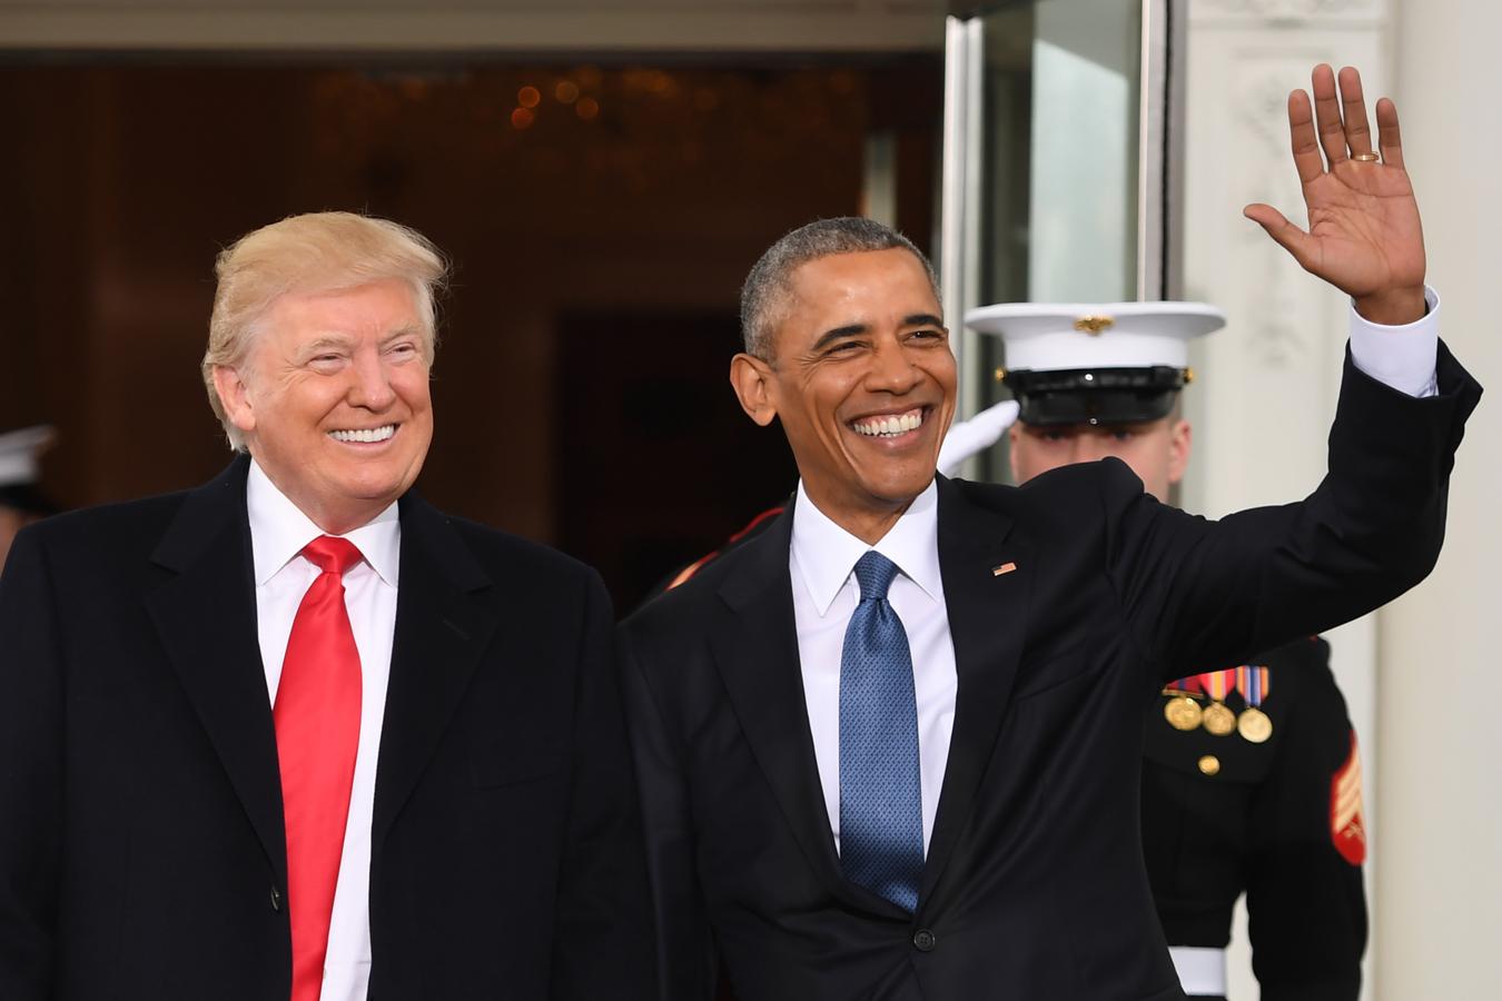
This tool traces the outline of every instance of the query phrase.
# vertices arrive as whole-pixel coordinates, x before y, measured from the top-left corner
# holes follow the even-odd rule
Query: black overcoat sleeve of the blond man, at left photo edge
[[[51,996],[63,843],[63,686],[53,581],[35,531],[0,578],[0,996]]]

